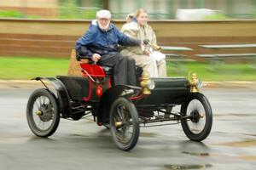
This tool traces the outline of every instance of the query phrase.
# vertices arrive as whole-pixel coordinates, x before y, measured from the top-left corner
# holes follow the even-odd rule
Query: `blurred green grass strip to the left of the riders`
[[[25,80],[33,77],[67,75],[69,59],[0,57],[0,79]]]

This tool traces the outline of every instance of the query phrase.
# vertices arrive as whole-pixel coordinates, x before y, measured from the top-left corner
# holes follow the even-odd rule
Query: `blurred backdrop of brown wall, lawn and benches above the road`
[[[75,41],[102,8],[119,28],[147,9],[168,76],[256,81],[256,0],[1,0],[0,79],[67,74]]]

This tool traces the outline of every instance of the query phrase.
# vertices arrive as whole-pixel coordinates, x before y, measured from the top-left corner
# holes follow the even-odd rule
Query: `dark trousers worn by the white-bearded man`
[[[104,54],[98,65],[113,67],[115,85],[137,85],[135,59],[119,53]]]

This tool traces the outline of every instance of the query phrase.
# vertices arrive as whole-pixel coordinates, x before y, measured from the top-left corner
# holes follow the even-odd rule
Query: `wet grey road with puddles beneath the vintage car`
[[[49,139],[26,123],[28,89],[0,89],[0,169],[255,169],[256,90],[206,89],[212,133],[189,141],[180,125],[141,128],[130,152],[115,148],[110,132],[91,118],[61,120]]]

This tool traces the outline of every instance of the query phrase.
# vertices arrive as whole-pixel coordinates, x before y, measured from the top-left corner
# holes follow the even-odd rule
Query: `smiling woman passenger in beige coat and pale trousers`
[[[135,14],[136,20],[125,24],[122,27],[129,37],[140,39],[141,41],[148,39],[151,43],[157,43],[156,37],[151,26],[148,26],[148,13],[144,9],[138,9]],[[143,67],[143,71],[148,71],[150,77],[166,77],[166,60],[154,59],[147,49],[141,47],[126,47],[121,54],[129,55],[136,60],[136,65]]]

